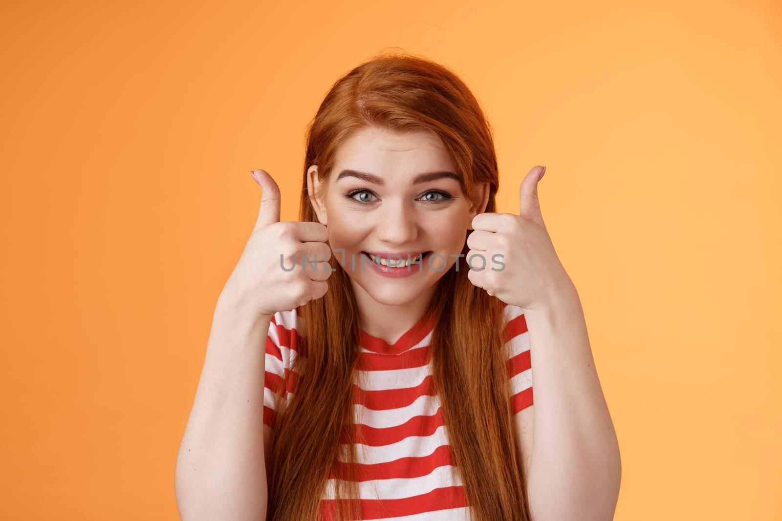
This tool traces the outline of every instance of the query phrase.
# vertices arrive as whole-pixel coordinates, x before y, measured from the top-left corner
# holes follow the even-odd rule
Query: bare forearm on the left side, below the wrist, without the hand
[[[181,519],[266,519],[264,371],[271,317],[221,294],[177,458]]]

